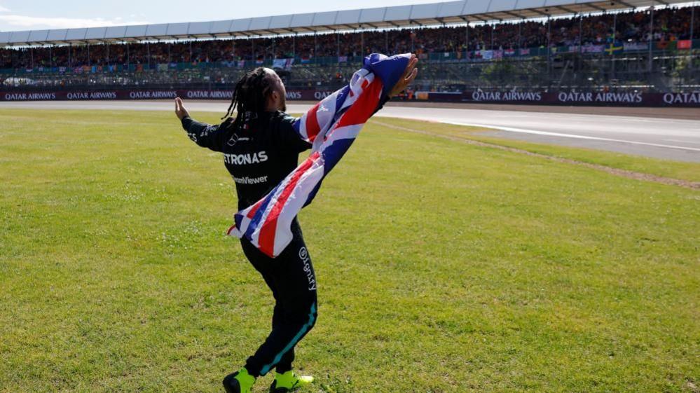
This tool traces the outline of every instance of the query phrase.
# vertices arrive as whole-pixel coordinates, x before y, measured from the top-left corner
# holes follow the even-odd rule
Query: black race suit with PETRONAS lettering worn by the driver
[[[263,198],[296,168],[299,153],[311,147],[292,128],[296,118],[286,113],[263,112],[249,118],[238,129],[232,119],[221,125],[198,123],[188,116],[182,119],[190,139],[224,153],[224,165],[235,181],[238,209]],[[291,370],[294,345],[316,322],[316,277],[296,218],[291,232],[294,238],[277,258],[263,254],[245,237],[240,240],[243,253],[275,297],[272,331],[245,364],[256,377],[273,367],[279,373]]]

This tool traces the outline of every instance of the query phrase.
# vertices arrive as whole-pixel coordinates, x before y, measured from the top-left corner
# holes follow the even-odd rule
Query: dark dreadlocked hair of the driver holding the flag
[[[233,126],[240,127],[245,123],[248,113],[265,111],[267,97],[273,89],[273,79],[266,73],[263,67],[258,67],[247,72],[233,88],[231,105],[228,106],[226,115],[221,118],[231,118],[236,112]]]

